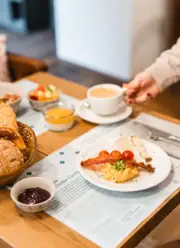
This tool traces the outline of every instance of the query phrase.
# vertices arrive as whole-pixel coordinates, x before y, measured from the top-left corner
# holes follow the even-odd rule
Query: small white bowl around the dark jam
[[[34,205],[23,204],[18,201],[18,196],[22,193],[25,189],[33,188],[33,187],[40,187],[42,189],[47,190],[51,197],[46,201]],[[11,199],[14,201],[16,206],[23,210],[24,212],[29,213],[36,213],[40,211],[44,211],[51,206],[53,197],[55,195],[55,185],[50,180],[44,177],[29,177],[17,182],[11,189]]]

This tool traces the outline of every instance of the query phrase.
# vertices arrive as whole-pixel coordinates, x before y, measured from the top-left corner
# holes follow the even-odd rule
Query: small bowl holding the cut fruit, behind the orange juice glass
[[[33,90],[34,91],[34,90]],[[36,111],[43,111],[45,108],[47,108],[49,105],[51,104],[55,104],[55,103],[58,103],[59,100],[60,100],[60,96],[61,96],[61,91],[59,91],[59,97],[53,99],[53,100],[47,100],[47,101],[37,101],[37,100],[32,100],[30,99],[29,95],[32,91],[29,92],[28,94],[28,100],[29,100],[29,103],[31,104],[32,108]]]

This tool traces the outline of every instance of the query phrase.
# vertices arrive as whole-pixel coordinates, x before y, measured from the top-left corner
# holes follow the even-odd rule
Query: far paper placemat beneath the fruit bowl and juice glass
[[[17,84],[19,85],[24,95],[20,105],[20,109],[17,113],[17,120],[30,126],[37,136],[48,131],[43,114],[41,112],[35,111],[31,107],[27,98],[28,92],[36,89],[37,84],[27,79],[22,79],[18,81]],[[79,102],[78,99],[65,94],[62,94],[61,101],[70,104],[73,108],[75,108],[76,104]]]

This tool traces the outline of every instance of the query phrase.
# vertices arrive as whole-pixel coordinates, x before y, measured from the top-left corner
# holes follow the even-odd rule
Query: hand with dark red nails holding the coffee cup
[[[138,74],[129,84],[124,84],[128,104],[148,102],[160,93],[156,80],[148,72]]]

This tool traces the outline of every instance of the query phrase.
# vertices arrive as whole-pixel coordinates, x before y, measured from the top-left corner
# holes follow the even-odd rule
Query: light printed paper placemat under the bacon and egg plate
[[[151,116],[146,115],[145,118],[148,120]],[[157,120],[164,125],[163,120]],[[180,160],[173,158],[168,179],[147,191],[109,192],[94,187],[81,177],[75,164],[81,149],[92,145],[100,137],[113,138],[126,133],[130,122],[98,126],[41,160],[21,176],[24,178],[28,174],[52,180],[56,185],[56,196],[47,213],[103,248],[116,247],[180,186]],[[169,129],[172,125],[179,129],[178,125],[166,125]]]

